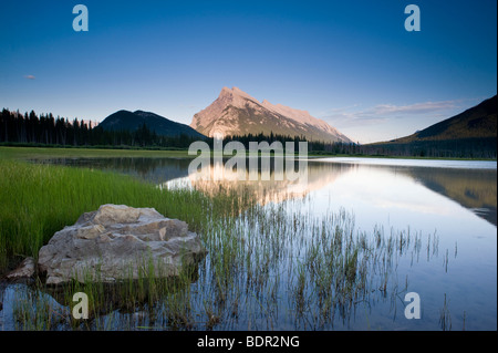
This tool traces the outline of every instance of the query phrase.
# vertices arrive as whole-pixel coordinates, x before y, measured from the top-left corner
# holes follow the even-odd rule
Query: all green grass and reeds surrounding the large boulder
[[[183,219],[208,250],[198,267],[184,266],[175,278],[157,278],[157,264],[146,261],[138,278],[113,284],[89,272],[84,283],[25,287],[14,304],[19,329],[347,328],[357,311],[369,321],[376,303],[391,303],[395,316],[408,290],[405,273],[398,280],[401,261],[415,266],[424,249],[427,261],[438,251],[435,235],[424,245],[425,235],[409,229],[360,232],[345,210],[315,217],[289,208],[291,200],[260,206],[245,191],[220,188],[208,198],[91,169],[1,159],[0,167],[3,263],[13,255],[35,256],[54,231],[110,203],[154,207]],[[89,295],[86,321],[71,318],[75,292]]]

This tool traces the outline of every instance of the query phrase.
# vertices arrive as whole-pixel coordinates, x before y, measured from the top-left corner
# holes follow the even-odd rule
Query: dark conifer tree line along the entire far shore
[[[136,131],[106,131],[101,126],[92,126],[83,120],[72,121],[54,117],[52,113],[38,115],[34,111],[21,114],[3,108],[0,113],[0,144],[53,146],[53,147],[103,147],[103,148],[165,148],[187,149],[198,137],[188,135],[157,135],[147,125]],[[205,141],[212,147],[214,139]],[[266,134],[248,134],[228,136],[224,144],[238,141],[249,149],[249,142],[278,141],[294,142],[295,152],[299,142],[308,142],[308,152],[314,155],[369,155],[369,156],[421,156],[421,157],[460,157],[460,158],[496,158],[496,137],[460,138],[454,141],[412,142],[406,144],[370,144],[360,145],[341,142],[307,141],[304,136]]]

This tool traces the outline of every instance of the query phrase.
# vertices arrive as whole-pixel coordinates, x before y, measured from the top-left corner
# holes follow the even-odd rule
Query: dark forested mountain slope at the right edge
[[[497,96],[394,143],[497,137]]]

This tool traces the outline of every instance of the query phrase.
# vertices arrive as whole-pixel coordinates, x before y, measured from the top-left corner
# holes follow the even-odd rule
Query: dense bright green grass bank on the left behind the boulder
[[[160,190],[129,176],[0,158],[0,273],[9,260],[37,258],[55,231],[103,204],[153,207],[201,229],[238,209],[239,197],[208,198],[195,190]],[[10,263],[10,267],[13,263]]]

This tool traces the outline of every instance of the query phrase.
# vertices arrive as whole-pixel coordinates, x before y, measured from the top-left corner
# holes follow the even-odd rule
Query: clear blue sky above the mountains
[[[89,9],[75,32],[73,7]],[[408,32],[407,4],[421,9]],[[222,86],[307,110],[361,143],[497,92],[497,1],[0,2],[0,108],[189,124]]]

